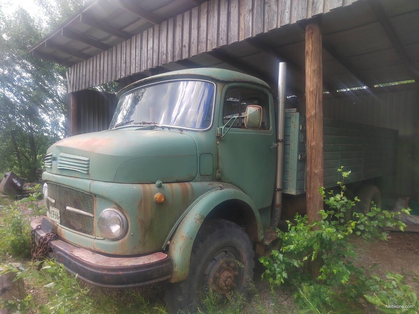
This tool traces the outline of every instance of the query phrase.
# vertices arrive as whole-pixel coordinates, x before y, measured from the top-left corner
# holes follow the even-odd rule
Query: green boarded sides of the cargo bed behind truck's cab
[[[300,130],[300,126],[302,130]],[[305,192],[305,117],[285,113],[283,192]],[[325,188],[341,180],[337,169],[351,171],[346,183],[392,175],[396,172],[398,131],[347,121],[323,119]]]

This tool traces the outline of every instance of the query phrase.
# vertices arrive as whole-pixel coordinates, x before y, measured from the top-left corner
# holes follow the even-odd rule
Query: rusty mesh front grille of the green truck
[[[48,196],[55,200],[54,208],[59,209],[60,224],[70,229],[93,235],[94,200],[93,196],[55,183],[48,184]],[[77,208],[93,217],[68,211],[67,206]]]

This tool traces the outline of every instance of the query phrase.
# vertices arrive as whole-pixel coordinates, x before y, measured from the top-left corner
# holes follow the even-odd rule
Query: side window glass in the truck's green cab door
[[[259,130],[269,129],[269,97],[259,90],[233,88],[227,91],[223,106],[223,123],[226,124],[233,116],[244,116],[249,105],[262,107],[262,124]],[[233,127],[244,129],[244,118],[237,118]]]

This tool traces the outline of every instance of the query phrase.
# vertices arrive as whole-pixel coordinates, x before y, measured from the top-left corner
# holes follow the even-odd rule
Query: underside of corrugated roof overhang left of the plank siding
[[[70,67],[202,2],[92,0],[29,52]]]

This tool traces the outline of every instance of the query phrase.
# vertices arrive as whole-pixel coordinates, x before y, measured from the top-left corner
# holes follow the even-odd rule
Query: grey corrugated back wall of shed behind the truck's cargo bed
[[[417,86],[417,85],[416,85]],[[415,86],[414,86],[415,87]],[[386,93],[367,94],[354,91],[353,95],[323,100],[324,118],[350,121],[395,129],[399,132],[397,175],[394,192],[398,196],[413,196],[415,139],[418,136],[419,90],[417,88]],[[417,167],[417,166],[416,166]]]

